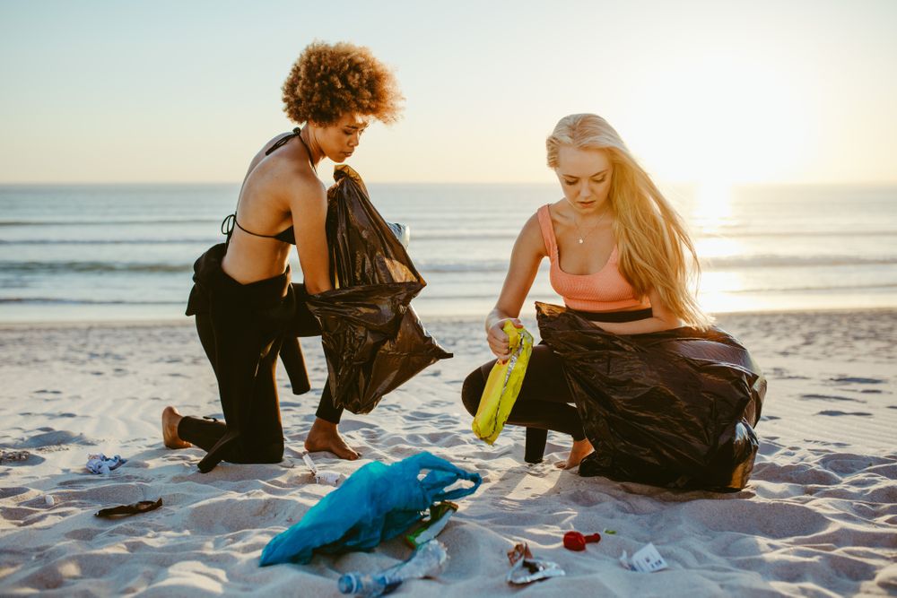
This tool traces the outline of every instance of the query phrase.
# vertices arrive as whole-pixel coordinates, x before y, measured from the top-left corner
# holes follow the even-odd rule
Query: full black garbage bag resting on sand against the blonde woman
[[[607,333],[566,308],[536,303],[586,436],[580,475],[658,486],[741,490],[759,441],[766,379],[736,339],[714,327]]]

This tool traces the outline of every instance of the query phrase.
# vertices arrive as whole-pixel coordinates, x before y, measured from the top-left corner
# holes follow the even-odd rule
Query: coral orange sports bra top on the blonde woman
[[[580,311],[623,311],[633,308],[650,308],[647,297],[637,298],[629,282],[617,269],[617,248],[601,270],[591,274],[570,274],[561,269],[557,238],[554,237],[552,215],[545,204],[536,212],[539,228],[551,260],[552,288],[564,300],[568,308]]]

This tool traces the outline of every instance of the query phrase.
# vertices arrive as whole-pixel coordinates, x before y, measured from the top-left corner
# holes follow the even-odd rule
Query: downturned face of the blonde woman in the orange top
[[[554,172],[561,181],[563,196],[573,209],[588,213],[605,210],[613,170],[604,150],[580,150],[562,145],[558,150],[558,166]]]

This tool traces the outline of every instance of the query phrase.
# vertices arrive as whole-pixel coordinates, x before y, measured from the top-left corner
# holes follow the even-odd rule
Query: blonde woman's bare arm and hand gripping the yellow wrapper
[[[536,280],[539,263],[546,256],[542,231],[539,228],[539,220],[536,214],[523,225],[517,241],[510,255],[508,274],[501,287],[501,295],[495,303],[495,308],[486,316],[486,341],[489,348],[500,360],[510,356],[508,335],[501,330],[505,320],[512,320],[514,325],[522,328],[523,325],[517,319],[520,308],[527,299],[529,290]]]

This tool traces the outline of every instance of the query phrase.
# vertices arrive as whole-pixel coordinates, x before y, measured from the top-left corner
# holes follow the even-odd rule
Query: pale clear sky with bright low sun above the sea
[[[551,182],[606,117],[659,181],[897,182],[897,2],[0,2],[0,183],[239,181],[313,39],[406,97],[371,182]]]

